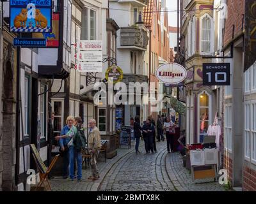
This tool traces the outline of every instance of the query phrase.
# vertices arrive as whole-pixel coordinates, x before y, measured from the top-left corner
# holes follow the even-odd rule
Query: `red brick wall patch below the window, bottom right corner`
[[[244,166],[243,191],[256,191],[256,171]]]

